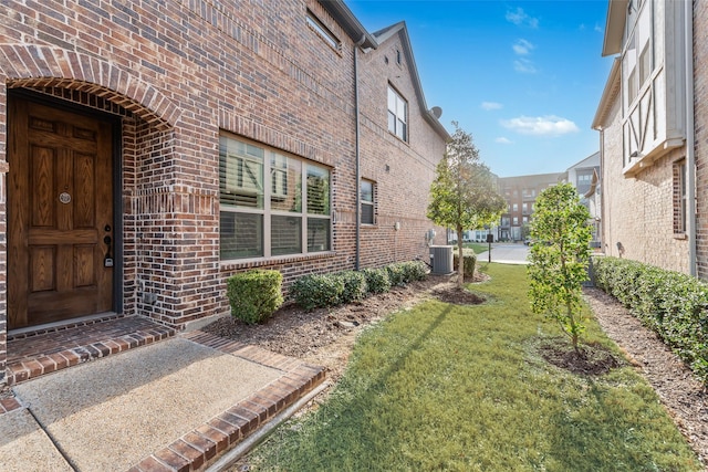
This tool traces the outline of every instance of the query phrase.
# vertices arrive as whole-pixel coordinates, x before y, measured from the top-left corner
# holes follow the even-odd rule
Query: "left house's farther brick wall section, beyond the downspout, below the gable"
[[[376,190],[376,224],[362,229],[362,266],[416,256],[427,261],[425,237],[429,229],[436,229],[435,243],[445,243],[445,230],[425,218],[430,182],[445,154],[445,143],[421,115],[402,34],[360,54],[361,174],[375,182]],[[408,141],[388,132],[389,84],[408,103]],[[399,230],[395,230],[397,222]]]

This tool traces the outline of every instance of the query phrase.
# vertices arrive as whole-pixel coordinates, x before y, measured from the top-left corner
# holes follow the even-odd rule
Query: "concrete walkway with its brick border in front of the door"
[[[294,358],[183,334],[14,386],[0,466],[198,470],[323,379]]]

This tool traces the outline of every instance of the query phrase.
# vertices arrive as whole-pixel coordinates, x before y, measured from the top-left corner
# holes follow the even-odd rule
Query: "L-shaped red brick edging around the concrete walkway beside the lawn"
[[[181,336],[226,354],[282,370],[283,375],[168,447],[143,459],[129,472],[202,470],[325,379],[323,367],[270,353],[258,346],[198,331],[184,333]]]

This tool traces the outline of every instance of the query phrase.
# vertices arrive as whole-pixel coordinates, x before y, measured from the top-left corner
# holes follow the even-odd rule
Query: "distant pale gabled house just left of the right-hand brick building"
[[[590,212],[590,224],[593,227],[593,240],[591,245],[593,248],[601,248],[602,191],[600,183],[600,153],[595,153],[569,167],[565,172],[568,175],[568,181],[577,189],[581,203],[583,203]]]

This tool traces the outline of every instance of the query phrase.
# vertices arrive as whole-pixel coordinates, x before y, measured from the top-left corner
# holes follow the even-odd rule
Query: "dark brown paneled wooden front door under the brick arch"
[[[113,310],[112,125],[9,105],[9,327]]]

